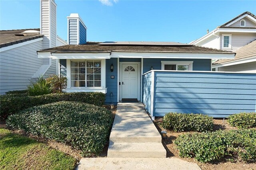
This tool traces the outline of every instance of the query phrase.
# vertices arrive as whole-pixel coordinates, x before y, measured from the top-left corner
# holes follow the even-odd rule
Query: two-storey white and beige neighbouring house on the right
[[[233,51],[233,60],[215,60],[215,71],[256,72],[256,16],[244,12],[190,44]]]

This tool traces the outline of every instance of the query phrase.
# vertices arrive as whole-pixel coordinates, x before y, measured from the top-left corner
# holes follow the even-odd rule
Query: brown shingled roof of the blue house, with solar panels
[[[129,42],[129,41],[128,41]],[[87,42],[83,45],[64,45],[50,49],[43,49],[38,52],[54,52],[54,53],[85,53],[85,52],[167,52],[167,53],[233,53],[231,51],[223,51],[207,47],[199,47],[190,44],[181,43],[163,43],[162,44],[133,44],[130,43],[117,43],[108,44],[100,42]]]

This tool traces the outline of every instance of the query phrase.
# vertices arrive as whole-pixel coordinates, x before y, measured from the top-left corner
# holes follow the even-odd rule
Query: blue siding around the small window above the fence
[[[193,61],[193,70],[210,71],[211,59],[143,59],[143,73],[150,71],[151,66],[154,70],[161,70],[161,61]]]

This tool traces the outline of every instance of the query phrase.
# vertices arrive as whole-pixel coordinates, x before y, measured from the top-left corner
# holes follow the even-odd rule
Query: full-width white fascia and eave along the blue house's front
[[[152,59],[234,59],[235,53],[168,52],[168,51],[104,51],[104,52],[40,52],[38,58],[52,59],[110,59],[110,58],[152,58]]]

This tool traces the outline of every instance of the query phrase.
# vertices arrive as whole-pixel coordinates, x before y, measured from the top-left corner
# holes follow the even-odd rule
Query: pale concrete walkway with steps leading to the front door
[[[141,103],[118,103],[108,157],[166,158],[162,137]]]

